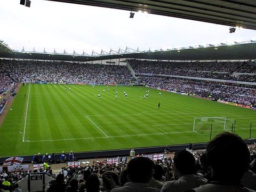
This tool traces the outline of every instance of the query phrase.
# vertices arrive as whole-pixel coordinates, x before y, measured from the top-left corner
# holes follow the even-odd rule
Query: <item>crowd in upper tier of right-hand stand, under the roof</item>
[[[129,63],[136,74],[175,75],[256,82],[255,75],[233,75],[233,73],[255,74],[256,63],[251,61],[170,62],[129,60]]]

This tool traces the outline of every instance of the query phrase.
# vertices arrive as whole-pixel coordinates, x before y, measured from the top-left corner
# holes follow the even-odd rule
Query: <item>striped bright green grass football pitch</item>
[[[243,138],[249,138],[252,122],[251,135],[256,137],[256,111],[164,91],[159,97],[159,90],[137,86],[115,87],[115,99],[114,87],[108,91],[103,85],[22,86],[0,127],[0,156],[206,142],[210,124],[213,135],[223,131],[219,122],[207,119],[193,132],[195,117],[235,119],[235,132]],[[146,90],[148,99],[143,97]]]

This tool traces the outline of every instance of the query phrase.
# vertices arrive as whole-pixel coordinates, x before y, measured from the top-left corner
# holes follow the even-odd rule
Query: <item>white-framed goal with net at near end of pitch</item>
[[[235,121],[227,117],[196,117],[193,131],[200,134],[209,134],[211,131],[233,131]]]

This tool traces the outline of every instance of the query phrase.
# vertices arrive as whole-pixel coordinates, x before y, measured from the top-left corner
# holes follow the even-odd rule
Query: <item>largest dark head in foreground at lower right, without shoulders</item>
[[[250,161],[250,152],[241,137],[229,132],[218,134],[206,146],[206,159],[212,177],[240,182]]]

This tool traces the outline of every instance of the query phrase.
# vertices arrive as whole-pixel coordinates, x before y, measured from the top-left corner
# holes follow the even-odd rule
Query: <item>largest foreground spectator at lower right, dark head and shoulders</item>
[[[241,137],[229,132],[218,134],[207,143],[206,159],[211,170],[211,180],[206,185],[191,191],[254,191],[241,184],[243,174],[250,162],[249,149]]]

